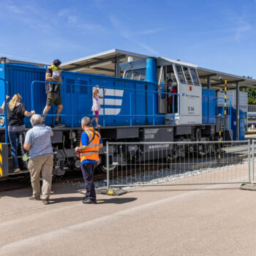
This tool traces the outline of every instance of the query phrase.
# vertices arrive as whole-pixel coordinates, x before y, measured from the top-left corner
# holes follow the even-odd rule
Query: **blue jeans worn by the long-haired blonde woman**
[[[19,168],[18,165],[18,148],[20,146],[21,154],[24,153],[23,151],[23,145],[22,145],[22,135],[23,132],[9,132],[8,131],[8,136],[12,148],[12,159],[13,159],[13,167],[15,169]]]

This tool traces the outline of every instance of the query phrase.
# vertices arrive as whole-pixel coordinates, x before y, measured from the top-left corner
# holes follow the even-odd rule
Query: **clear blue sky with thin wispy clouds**
[[[256,0],[0,0],[0,55],[49,63],[112,48],[256,78]]]

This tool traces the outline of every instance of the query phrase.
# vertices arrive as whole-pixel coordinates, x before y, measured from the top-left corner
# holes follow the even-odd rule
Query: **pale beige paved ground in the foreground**
[[[53,186],[53,203],[31,189],[2,192],[0,255],[255,255],[256,192],[238,184],[143,187],[121,197]]]

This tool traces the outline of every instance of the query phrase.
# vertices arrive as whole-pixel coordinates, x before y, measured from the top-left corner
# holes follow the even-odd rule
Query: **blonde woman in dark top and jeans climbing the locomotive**
[[[20,94],[15,94],[7,105],[8,135],[12,148],[14,173],[20,172],[17,151],[19,144],[21,144],[21,150],[23,151],[22,135],[25,130],[23,118],[34,115],[34,110],[28,112],[26,106],[20,103],[21,99]]]

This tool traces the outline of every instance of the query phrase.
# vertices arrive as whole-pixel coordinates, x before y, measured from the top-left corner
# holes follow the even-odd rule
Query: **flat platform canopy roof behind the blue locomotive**
[[[107,50],[102,53],[97,53],[91,56],[86,56],[80,59],[64,62],[63,64],[61,64],[61,69],[74,71],[74,72],[89,73],[94,75],[114,76],[115,61],[119,61],[119,63],[127,62],[129,56],[131,56],[133,60],[155,57],[155,56],[146,56],[139,53],[132,53],[127,50],[112,49],[112,50]],[[200,82],[203,87],[207,87],[208,77],[211,77],[211,89],[216,89],[216,90],[224,89],[225,79],[227,80],[228,89],[236,89],[236,83],[239,83],[239,86],[241,88],[256,87],[255,79],[243,78],[238,75],[232,75],[225,72],[219,72],[212,69],[198,67],[195,64],[190,64],[184,61],[167,59],[163,57],[158,57],[157,59],[161,61],[172,62],[172,63],[181,64],[189,67],[196,67],[199,78],[200,78]]]

